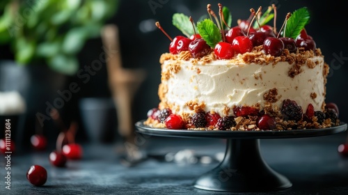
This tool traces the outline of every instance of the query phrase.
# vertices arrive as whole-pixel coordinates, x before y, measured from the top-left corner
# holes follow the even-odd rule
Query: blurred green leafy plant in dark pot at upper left
[[[45,111],[117,8],[115,0],[1,0],[0,45],[10,55],[0,59],[0,91],[19,91],[27,113]]]

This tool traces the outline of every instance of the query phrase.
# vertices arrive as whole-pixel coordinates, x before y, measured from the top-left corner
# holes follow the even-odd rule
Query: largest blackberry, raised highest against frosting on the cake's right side
[[[284,100],[281,108],[281,113],[285,120],[299,121],[302,118],[302,107],[299,106],[294,100]]]

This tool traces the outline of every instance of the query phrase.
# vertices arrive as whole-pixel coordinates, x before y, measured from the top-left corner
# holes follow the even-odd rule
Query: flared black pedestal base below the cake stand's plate
[[[200,176],[194,187],[221,192],[267,192],[292,187],[260,155],[259,139],[228,139],[223,161]]]

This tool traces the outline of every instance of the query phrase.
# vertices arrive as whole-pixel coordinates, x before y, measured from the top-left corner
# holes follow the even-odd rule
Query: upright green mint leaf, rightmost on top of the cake
[[[292,13],[289,20],[287,20],[285,36],[288,38],[296,38],[309,21],[310,13],[306,7],[294,10],[294,13]]]

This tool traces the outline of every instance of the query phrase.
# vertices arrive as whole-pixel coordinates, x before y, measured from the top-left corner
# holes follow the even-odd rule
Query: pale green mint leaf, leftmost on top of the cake
[[[175,13],[173,15],[172,22],[173,22],[173,25],[177,27],[177,29],[182,31],[182,33],[185,36],[190,37],[191,35],[193,35],[194,31],[193,31],[192,23],[190,21],[190,18],[187,15],[184,15],[183,13]]]

